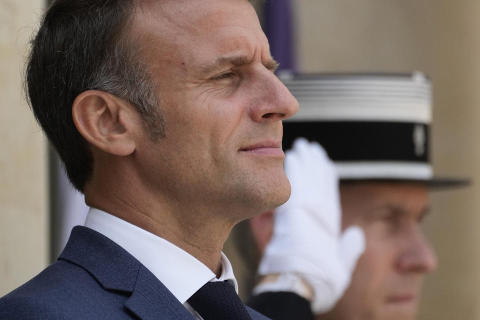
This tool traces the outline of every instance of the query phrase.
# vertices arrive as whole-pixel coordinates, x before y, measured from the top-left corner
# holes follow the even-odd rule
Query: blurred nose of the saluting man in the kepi
[[[421,230],[412,230],[397,260],[400,272],[429,273],[436,269],[436,254]]]

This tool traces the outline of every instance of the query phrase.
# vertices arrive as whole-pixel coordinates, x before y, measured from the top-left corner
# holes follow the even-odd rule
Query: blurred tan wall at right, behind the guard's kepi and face
[[[426,72],[433,82],[436,175],[425,229],[439,257],[419,319],[480,319],[480,1],[296,0],[301,71]]]

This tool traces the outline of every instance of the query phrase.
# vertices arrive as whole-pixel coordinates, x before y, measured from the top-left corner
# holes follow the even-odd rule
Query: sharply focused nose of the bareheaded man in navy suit
[[[260,72],[252,91],[256,95],[250,116],[254,121],[286,119],[298,111],[298,102],[271,71]]]

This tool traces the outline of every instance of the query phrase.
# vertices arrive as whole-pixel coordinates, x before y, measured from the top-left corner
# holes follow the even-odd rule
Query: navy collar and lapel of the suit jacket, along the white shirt
[[[129,294],[124,306],[142,320],[194,320],[145,266],[118,244],[92,229],[75,226],[58,259],[79,265],[107,291]]]

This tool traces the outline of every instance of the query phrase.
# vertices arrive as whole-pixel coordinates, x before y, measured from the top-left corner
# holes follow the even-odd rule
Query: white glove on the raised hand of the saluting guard
[[[273,235],[258,273],[299,276],[313,289],[313,313],[323,313],[347,288],[364,250],[364,234],[357,226],[341,232],[338,178],[318,143],[296,139],[285,154],[284,169],[291,195],[275,210]],[[266,290],[268,286],[263,285],[255,293]]]

